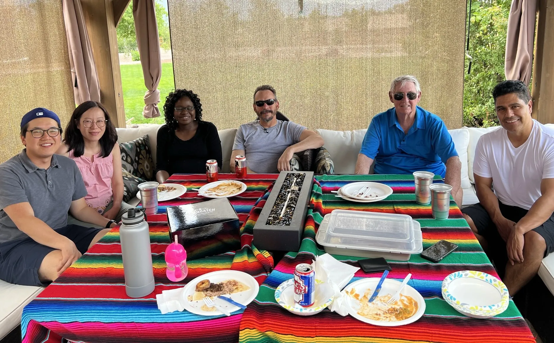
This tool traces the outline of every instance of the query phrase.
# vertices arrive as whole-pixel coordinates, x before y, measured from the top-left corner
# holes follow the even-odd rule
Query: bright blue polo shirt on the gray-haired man
[[[458,156],[444,122],[417,106],[408,134],[398,123],[394,107],[371,120],[360,153],[375,160],[376,174],[429,171],[444,177],[448,158]]]

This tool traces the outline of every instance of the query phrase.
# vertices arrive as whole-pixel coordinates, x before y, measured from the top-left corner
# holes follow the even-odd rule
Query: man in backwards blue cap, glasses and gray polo
[[[114,221],[85,202],[79,168],[54,155],[61,123],[38,107],[21,119],[22,152],[0,165],[0,279],[47,285],[98,242]],[[68,225],[68,211],[102,228]]]

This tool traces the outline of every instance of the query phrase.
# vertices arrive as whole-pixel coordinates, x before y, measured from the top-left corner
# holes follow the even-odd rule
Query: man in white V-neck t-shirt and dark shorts
[[[554,251],[554,130],[531,119],[533,103],[521,81],[497,84],[493,98],[502,127],[477,143],[479,203],[462,212],[481,245],[500,256],[497,267],[504,258],[502,280],[513,296]]]

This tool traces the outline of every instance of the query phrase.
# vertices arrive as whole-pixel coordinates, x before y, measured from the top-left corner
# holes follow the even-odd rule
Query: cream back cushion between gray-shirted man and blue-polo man
[[[334,131],[317,129],[315,132],[323,137],[323,145],[335,166],[337,174],[353,174],[356,170],[356,160],[362,147],[363,136],[367,129],[354,131]]]

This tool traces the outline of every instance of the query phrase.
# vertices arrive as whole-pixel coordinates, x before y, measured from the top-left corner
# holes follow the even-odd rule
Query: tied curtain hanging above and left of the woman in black
[[[135,18],[135,32],[139,45],[140,63],[144,84],[148,91],[144,96],[145,118],[160,116],[160,91],[158,84],[162,76],[162,64],[160,57],[160,40],[158,38],[158,25],[156,23],[155,0],[133,0],[133,17]]]

